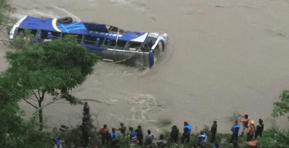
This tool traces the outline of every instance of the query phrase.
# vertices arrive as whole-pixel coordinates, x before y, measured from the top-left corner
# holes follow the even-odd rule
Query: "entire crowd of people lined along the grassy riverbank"
[[[84,108],[83,108],[83,119],[82,119],[82,134],[84,137],[84,147],[88,146],[88,131],[89,127],[92,126],[91,121],[90,121],[90,113],[89,113],[90,107],[88,106],[88,103],[84,103]],[[255,133],[255,139],[257,138],[258,135],[260,137],[262,136],[262,132],[264,130],[264,123],[262,119],[259,119],[259,125],[255,127],[255,121],[251,120],[248,115],[240,115],[243,119],[234,122],[234,125],[231,127],[231,131],[233,132],[231,138],[230,138],[230,143],[233,143],[234,148],[238,148],[238,133],[241,128],[240,123],[242,123],[242,133],[241,136],[244,135],[245,130],[247,134],[246,140],[248,141],[248,145],[251,147],[256,146],[257,140],[252,140],[254,137]],[[250,125],[248,126],[250,121]],[[239,123],[240,122],[240,123]],[[126,136],[126,126],[124,126],[124,123],[120,123],[120,128],[112,128],[112,132],[109,131],[107,128],[107,125],[103,125],[103,128],[100,128],[99,132],[102,136],[102,144],[108,144],[110,142],[111,147],[121,147],[120,139],[118,138],[118,132],[120,131],[123,136]],[[184,122],[184,129],[183,129],[183,134],[181,137],[181,143],[184,143],[185,140],[187,143],[190,142],[190,134],[192,132],[192,124],[188,123],[187,121]],[[145,136],[145,141],[143,143],[143,138],[144,135],[142,133],[142,128],[139,125],[136,130],[134,128],[130,127],[129,128],[130,134],[127,135],[127,138],[133,143],[136,143],[138,140],[138,144],[144,147],[155,147],[155,143],[152,143],[154,140],[154,134],[151,133],[151,130],[147,130],[147,134]],[[217,121],[213,122],[213,125],[211,127],[211,141],[214,142],[216,140],[216,132],[217,132]],[[177,143],[179,139],[179,129],[177,128],[176,125],[172,126],[171,128],[171,134],[169,141]],[[57,139],[56,137],[53,138],[53,141],[55,142],[55,148],[62,148],[61,140]],[[156,142],[157,146],[159,148],[166,148],[168,145],[168,141],[164,139],[164,135],[161,134],[159,140]],[[201,147],[201,148],[206,148],[206,145],[208,144],[208,135],[204,133],[203,130],[200,131],[200,134],[197,136],[197,144],[194,145],[194,147]],[[220,148],[219,145],[216,143],[215,147],[213,148]]]

